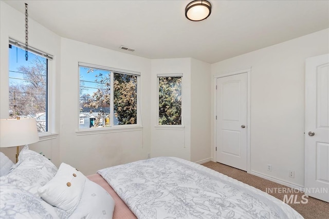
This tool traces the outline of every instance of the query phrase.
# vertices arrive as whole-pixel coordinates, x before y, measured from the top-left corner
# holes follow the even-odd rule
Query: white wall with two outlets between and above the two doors
[[[304,186],[305,58],[328,50],[325,29],[212,64],[212,75],[251,66],[252,173]],[[213,136],[211,140],[213,145]],[[295,171],[295,178],[288,177],[289,170]]]

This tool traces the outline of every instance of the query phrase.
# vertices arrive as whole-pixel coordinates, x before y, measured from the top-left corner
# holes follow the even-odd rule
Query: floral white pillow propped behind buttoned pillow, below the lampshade
[[[0,179],[38,196],[38,188],[51,180],[56,172],[55,165],[45,156],[29,150],[26,145],[19,155],[19,162],[15,168]]]

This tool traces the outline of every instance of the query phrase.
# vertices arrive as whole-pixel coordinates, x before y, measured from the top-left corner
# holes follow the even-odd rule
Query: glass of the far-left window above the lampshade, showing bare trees
[[[9,116],[33,117],[47,131],[48,59],[9,44]]]

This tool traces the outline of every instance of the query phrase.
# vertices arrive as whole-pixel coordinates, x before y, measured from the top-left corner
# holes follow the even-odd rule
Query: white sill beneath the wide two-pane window
[[[103,133],[113,133],[113,132],[128,132],[128,131],[141,131],[143,130],[142,126],[133,126],[133,127],[100,127],[100,128],[89,128],[89,129],[80,129],[76,131],[77,135],[88,135],[88,134],[103,134]]]

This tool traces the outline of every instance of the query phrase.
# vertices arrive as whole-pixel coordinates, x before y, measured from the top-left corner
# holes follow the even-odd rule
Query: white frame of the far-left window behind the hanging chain
[[[19,47],[23,50],[26,49],[25,44],[17,41],[16,39],[9,38],[9,44]],[[56,132],[56,113],[55,113],[55,82],[56,78],[55,75],[52,74],[53,72],[53,55],[50,55],[49,53],[43,52],[42,50],[36,49],[34,47],[28,46],[27,50],[31,53],[34,53],[36,55],[45,57],[48,59],[48,65],[47,65],[47,131],[45,132],[40,132],[39,133],[39,139],[40,141],[46,141],[46,140],[51,140],[53,138],[56,138],[58,133]]]

